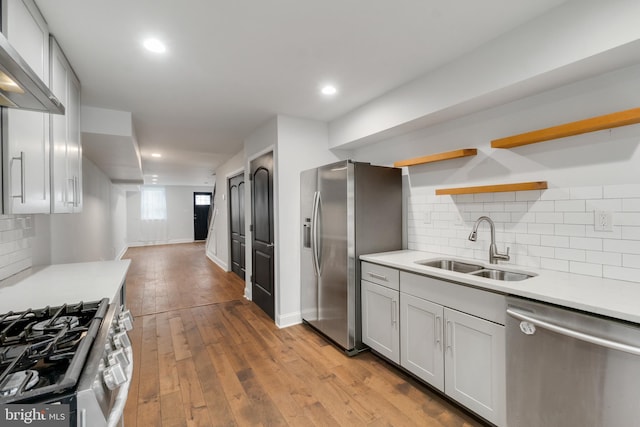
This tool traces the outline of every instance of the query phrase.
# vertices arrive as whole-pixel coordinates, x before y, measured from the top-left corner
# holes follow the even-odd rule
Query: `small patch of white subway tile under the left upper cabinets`
[[[0,215],[0,280],[31,267],[33,236],[30,215]]]

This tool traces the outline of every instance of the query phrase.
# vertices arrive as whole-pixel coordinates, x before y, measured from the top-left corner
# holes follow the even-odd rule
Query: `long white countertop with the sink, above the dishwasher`
[[[415,261],[438,258],[481,264],[486,268],[522,271],[536,276],[518,282],[505,282],[440,268],[426,267],[415,263]],[[360,259],[400,270],[461,282],[503,294],[531,298],[640,323],[640,283],[539,270],[512,264],[493,265],[475,259],[411,250],[362,255]]]

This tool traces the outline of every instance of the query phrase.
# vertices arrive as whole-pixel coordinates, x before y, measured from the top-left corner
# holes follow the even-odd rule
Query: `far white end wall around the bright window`
[[[140,191],[127,191],[127,238],[129,246],[193,242],[193,193],[212,187],[165,186],[166,221],[140,218]]]

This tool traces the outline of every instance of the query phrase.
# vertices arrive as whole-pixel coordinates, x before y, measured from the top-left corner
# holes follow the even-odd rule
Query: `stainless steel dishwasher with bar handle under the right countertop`
[[[640,426],[639,325],[507,304],[509,427]]]

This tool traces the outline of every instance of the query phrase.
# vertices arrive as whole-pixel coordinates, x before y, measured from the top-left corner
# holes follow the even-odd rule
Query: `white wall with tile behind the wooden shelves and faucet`
[[[355,151],[374,163],[457,148],[476,157],[413,166],[405,177],[408,247],[486,259],[489,233],[468,241],[481,215],[496,221],[512,263],[640,282],[640,125],[511,150],[490,141],[640,105],[640,65],[424,128]],[[546,191],[435,196],[437,188],[548,181]],[[594,212],[613,230],[594,229]]]

